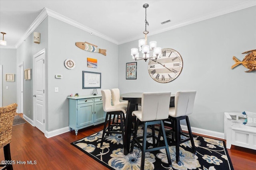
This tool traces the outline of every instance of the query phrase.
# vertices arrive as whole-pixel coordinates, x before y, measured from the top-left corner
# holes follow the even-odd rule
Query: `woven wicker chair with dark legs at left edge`
[[[12,139],[12,123],[16,113],[17,104],[10,104],[0,107],[0,149],[4,147],[5,160],[12,160],[10,152],[10,142]],[[1,164],[1,170],[12,170],[12,164]]]

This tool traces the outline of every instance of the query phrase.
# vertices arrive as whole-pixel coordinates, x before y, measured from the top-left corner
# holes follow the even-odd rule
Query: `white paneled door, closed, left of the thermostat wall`
[[[45,50],[34,55],[34,71],[33,71],[33,92],[34,106],[33,119],[34,126],[43,133],[45,132]]]

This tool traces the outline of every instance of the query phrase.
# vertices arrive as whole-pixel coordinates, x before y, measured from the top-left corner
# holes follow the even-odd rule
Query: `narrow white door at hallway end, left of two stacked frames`
[[[23,113],[23,63],[18,65],[18,113]]]

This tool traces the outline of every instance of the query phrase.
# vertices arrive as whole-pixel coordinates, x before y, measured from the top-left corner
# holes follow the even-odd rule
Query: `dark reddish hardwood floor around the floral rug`
[[[107,170],[108,168],[70,145],[102,129],[103,125],[98,125],[79,130],[77,136],[71,131],[47,139],[29,123],[13,126],[10,143],[12,160],[16,161],[13,168],[14,170]],[[252,170],[256,167],[256,150],[232,146],[228,154],[235,170]],[[2,148],[0,160],[4,160]],[[28,161],[36,162],[28,164]]]

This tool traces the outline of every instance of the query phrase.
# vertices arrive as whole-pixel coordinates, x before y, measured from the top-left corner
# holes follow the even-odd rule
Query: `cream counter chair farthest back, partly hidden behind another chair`
[[[118,88],[112,88],[111,90],[111,96],[112,96],[112,104],[113,106],[125,106],[127,110],[127,105],[128,105],[128,101],[124,101],[124,102],[120,102],[120,91]],[[125,118],[125,113],[123,114],[123,122],[124,122],[124,118]],[[120,117],[117,116],[117,118],[114,116],[113,117],[113,122],[115,121],[116,119],[116,122],[118,123],[118,121],[120,120]]]

